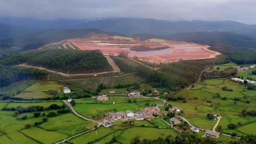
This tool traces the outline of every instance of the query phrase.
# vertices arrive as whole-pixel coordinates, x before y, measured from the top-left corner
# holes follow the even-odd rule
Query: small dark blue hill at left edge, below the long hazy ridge
[[[25,27],[10,26],[0,23],[0,41],[7,38],[24,36],[32,32],[33,30]]]

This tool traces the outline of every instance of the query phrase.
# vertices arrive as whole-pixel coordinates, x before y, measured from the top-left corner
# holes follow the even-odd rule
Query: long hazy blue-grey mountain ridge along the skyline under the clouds
[[[103,31],[130,34],[171,35],[197,31],[234,31],[256,28],[235,21],[166,21],[155,19],[111,18],[85,20],[37,20],[33,18],[0,18],[0,23],[34,29],[96,28]]]

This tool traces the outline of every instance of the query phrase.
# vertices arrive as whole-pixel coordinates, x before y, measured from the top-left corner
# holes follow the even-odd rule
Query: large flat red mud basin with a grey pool
[[[158,44],[157,47],[170,47],[169,49],[159,50],[156,48],[147,48],[152,51],[131,51],[134,47],[140,47],[140,43],[127,42],[105,42],[105,41],[84,41],[73,39],[72,41],[81,50],[101,50],[104,55],[109,53],[117,55],[119,52],[128,52],[130,57],[134,55],[143,60],[150,61],[177,61],[179,59],[209,59],[215,58],[219,53],[210,51],[207,45],[199,45],[195,43],[186,42],[168,42],[165,44]],[[150,44],[146,44],[150,45]],[[155,44],[154,44],[155,46]],[[148,46],[150,47],[150,46]],[[131,49],[129,49],[131,48]]]

